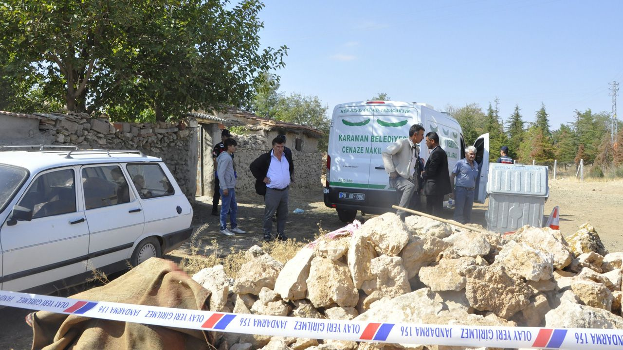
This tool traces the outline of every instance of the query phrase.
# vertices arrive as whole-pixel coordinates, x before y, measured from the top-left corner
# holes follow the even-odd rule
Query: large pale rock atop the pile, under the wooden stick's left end
[[[357,234],[367,237],[378,255],[390,257],[398,255],[411,236],[400,217],[391,212],[369,219]]]

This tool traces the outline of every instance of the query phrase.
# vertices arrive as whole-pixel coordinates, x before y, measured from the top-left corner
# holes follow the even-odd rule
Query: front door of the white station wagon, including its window
[[[88,226],[78,210],[76,169],[57,168],[34,178],[17,202],[30,221],[7,220],[0,237],[3,290],[22,291],[86,272]]]

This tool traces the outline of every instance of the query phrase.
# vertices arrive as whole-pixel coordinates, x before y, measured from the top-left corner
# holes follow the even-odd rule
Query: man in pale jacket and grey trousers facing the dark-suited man
[[[414,124],[409,128],[409,137],[397,140],[390,144],[383,152],[383,165],[389,174],[389,187],[402,191],[402,197],[398,204],[399,207],[416,209],[419,207],[419,200],[414,201],[412,207],[411,200],[420,190],[419,168],[420,146],[419,143],[424,139],[424,127]],[[419,199],[419,197],[417,197]],[[402,220],[407,216],[404,210],[397,210]]]

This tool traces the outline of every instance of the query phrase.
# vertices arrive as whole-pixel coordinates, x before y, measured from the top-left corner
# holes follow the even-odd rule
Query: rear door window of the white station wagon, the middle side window
[[[130,188],[117,165],[82,169],[84,202],[88,209],[130,202]]]

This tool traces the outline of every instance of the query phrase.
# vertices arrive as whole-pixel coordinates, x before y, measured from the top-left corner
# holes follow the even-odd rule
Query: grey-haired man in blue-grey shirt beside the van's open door
[[[450,184],[454,198],[454,219],[461,224],[467,224],[472,220],[472,206],[475,195],[476,181],[478,180],[478,163],[476,159],[476,148],[467,146],[465,148],[465,158],[457,161],[450,174]]]

